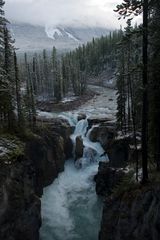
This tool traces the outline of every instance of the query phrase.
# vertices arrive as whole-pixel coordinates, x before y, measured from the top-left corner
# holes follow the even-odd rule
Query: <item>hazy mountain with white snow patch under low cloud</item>
[[[108,34],[109,30],[101,27],[70,27],[70,26],[36,26],[16,23],[9,26],[15,46],[20,52],[52,49],[70,50],[79,45]]]

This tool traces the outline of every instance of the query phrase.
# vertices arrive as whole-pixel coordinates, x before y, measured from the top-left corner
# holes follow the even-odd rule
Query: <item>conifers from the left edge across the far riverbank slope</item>
[[[93,39],[61,56],[55,47],[17,60],[14,41],[7,28],[5,2],[0,0],[0,131],[34,128],[36,101],[59,102],[68,95],[83,95],[88,78],[117,65],[121,31]]]

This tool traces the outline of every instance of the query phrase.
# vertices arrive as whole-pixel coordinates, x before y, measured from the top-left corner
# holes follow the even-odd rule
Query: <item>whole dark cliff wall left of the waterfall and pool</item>
[[[57,123],[57,132],[53,126],[55,123],[50,126],[50,131],[43,130],[38,136],[23,144],[23,151],[18,151],[19,143],[16,143],[17,148],[14,144],[14,149],[11,146],[10,153],[1,157],[1,240],[39,239],[41,226],[39,197],[43,193],[43,187],[51,184],[58,173],[63,171],[66,153],[71,154],[69,126],[60,121]],[[63,134],[58,131],[59,129]],[[68,134],[66,132],[64,134],[64,130]],[[70,145],[68,151],[67,144]]]

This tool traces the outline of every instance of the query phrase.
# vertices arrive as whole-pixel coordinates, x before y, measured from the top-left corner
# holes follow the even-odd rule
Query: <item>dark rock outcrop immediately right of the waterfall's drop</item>
[[[103,120],[103,119],[102,119]],[[98,119],[96,120],[98,121]],[[92,142],[100,142],[109,157],[109,166],[114,168],[125,167],[134,156],[130,149],[133,138],[116,138],[116,126],[110,122],[100,122],[90,132],[89,138]],[[132,157],[131,157],[132,156]]]

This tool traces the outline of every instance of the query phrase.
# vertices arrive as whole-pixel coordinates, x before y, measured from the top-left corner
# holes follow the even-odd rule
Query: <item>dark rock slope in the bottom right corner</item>
[[[99,240],[160,239],[160,188],[132,191],[106,201]]]

